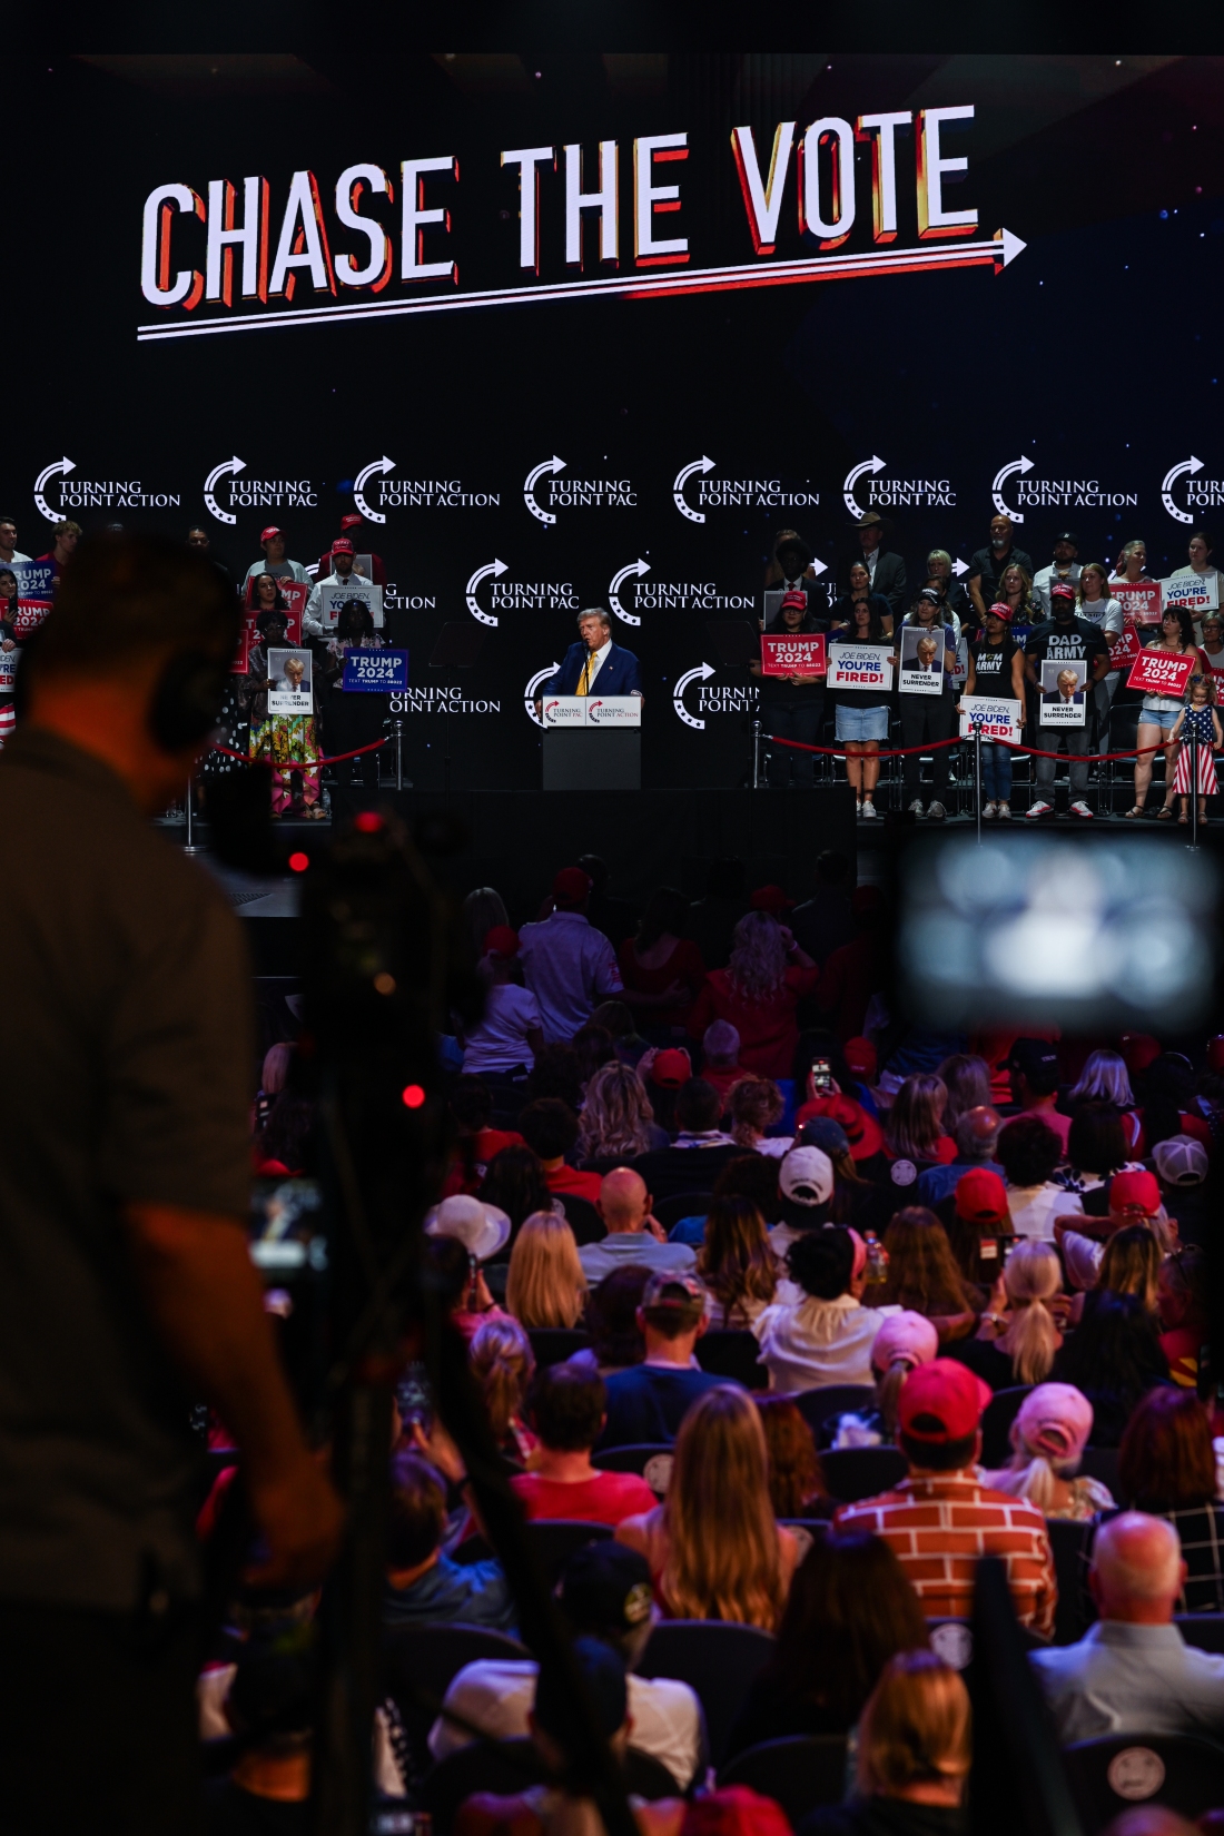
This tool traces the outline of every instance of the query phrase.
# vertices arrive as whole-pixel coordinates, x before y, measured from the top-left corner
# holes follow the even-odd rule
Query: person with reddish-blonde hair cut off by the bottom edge
[[[973,1761],[969,1691],[934,1651],[899,1651],[859,1722],[855,1794],[798,1836],[960,1836]]]

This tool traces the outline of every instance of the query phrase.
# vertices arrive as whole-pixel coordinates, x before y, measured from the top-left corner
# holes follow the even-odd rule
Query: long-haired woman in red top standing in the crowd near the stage
[[[789,1078],[798,1045],[795,1010],[820,980],[811,957],[769,912],[747,912],[736,925],[730,962],[710,969],[688,1015],[694,1039],[710,1021],[740,1034],[740,1063],[762,1078]]]

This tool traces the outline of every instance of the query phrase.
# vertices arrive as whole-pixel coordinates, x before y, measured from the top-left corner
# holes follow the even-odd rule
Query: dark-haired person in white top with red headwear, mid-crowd
[[[800,1149],[815,1153],[815,1149]],[[798,1302],[774,1302],[756,1320],[771,1390],[872,1383],[872,1346],[886,1315],[862,1305],[866,1245],[857,1232],[806,1230],[785,1252]],[[896,1311],[896,1309],[890,1309]]]

